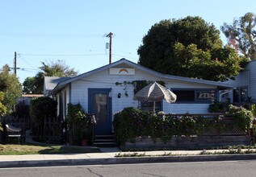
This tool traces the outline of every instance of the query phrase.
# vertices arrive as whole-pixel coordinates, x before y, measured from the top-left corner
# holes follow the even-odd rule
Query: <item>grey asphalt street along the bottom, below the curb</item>
[[[141,163],[72,167],[1,168],[0,176],[255,176],[256,160],[200,163]]]

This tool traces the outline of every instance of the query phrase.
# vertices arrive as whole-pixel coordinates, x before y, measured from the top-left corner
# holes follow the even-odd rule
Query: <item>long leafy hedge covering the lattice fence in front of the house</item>
[[[252,128],[254,121],[253,113],[250,110],[229,105],[229,114],[234,118],[234,124],[222,121],[219,116],[204,118],[202,116],[174,116],[159,112],[153,114],[136,108],[125,108],[115,113],[113,126],[116,141],[121,145],[135,138],[162,138],[163,142],[170,141],[174,135],[190,137],[199,136],[208,130],[225,131],[236,126],[245,134]]]

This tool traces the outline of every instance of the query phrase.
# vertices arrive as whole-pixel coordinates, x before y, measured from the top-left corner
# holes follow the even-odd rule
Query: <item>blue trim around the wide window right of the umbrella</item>
[[[209,91],[215,91],[215,100],[218,100],[218,96],[219,96],[219,89],[218,88],[170,88],[170,91],[175,92],[178,90],[182,90],[182,91],[194,91],[195,93],[195,98],[194,101],[175,101],[174,104],[211,104],[212,101],[197,101],[196,100],[196,93],[197,92],[209,92]]]

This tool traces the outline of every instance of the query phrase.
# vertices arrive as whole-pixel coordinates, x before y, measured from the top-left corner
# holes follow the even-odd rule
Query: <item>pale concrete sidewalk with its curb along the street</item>
[[[256,154],[200,154],[202,150],[159,150],[120,152],[118,148],[100,148],[101,153],[1,155],[0,167],[47,167],[106,165],[124,163],[178,163],[256,159]],[[222,152],[223,150],[207,150]],[[228,150],[227,150],[228,151]],[[141,157],[127,157],[128,154]],[[115,157],[118,155],[119,157]],[[124,157],[126,156],[126,157]]]

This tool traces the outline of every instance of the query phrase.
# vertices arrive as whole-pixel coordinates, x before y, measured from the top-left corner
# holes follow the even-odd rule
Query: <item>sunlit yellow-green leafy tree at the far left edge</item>
[[[3,93],[2,104],[6,107],[6,113],[12,112],[16,98],[21,97],[22,94],[19,79],[15,74],[10,74],[9,70],[9,66],[5,65],[0,73],[0,91]]]

